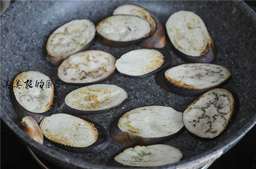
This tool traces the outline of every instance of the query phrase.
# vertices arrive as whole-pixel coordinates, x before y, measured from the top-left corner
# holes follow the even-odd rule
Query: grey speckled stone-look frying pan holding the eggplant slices
[[[64,151],[45,141],[41,145],[17,127],[21,120],[10,102],[10,90],[5,82],[23,71],[40,71],[58,80],[58,66],[45,59],[46,41],[59,26],[73,19],[89,19],[95,25],[110,15],[119,5],[133,3],[153,12],[165,25],[171,14],[188,10],[199,15],[217,47],[218,65],[227,67],[231,79],[220,86],[236,93],[237,110],[228,128],[215,139],[200,139],[186,129],[164,144],[175,146],[183,152],[183,159],[175,164],[152,168],[198,168],[228,151],[256,123],[256,14],[242,1],[16,1],[1,16],[1,118],[33,152],[62,168],[112,168],[107,159],[127,146],[110,140],[109,146],[97,154],[76,154]],[[93,41],[90,49],[102,50],[117,59],[124,53],[139,49],[111,48]],[[170,43],[164,48],[173,56],[173,65],[185,63],[173,51]],[[105,126],[120,114],[140,106],[170,106],[183,112],[196,97],[177,96],[156,85],[154,75],[133,79],[120,73],[105,84],[124,88],[128,98],[119,106],[105,113],[86,116]],[[59,98],[79,86],[65,84],[57,89]],[[11,87],[10,87],[11,88]],[[58,109],[58,112],[61,112]]]

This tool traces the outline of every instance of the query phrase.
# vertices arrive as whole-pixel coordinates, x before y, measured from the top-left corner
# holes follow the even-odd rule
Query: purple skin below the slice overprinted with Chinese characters
[[[25,116],[31,116],[36,120],[37,123],[40,123],[40,121],[47,116],[51,116],[52,114],[55,114],[58,109],[58,93],[56,90],[54,90],[54,96],[53,96],[53,104],[51,105],[51,108],[47,110],[44,113],[33,113],[31,111],[26,110],[23,108],[18,101],[15,98],[14,91],[11,91],[11,101],[12,106],[15,110],[15,112],[18,114],[20,118],[24,118]]]

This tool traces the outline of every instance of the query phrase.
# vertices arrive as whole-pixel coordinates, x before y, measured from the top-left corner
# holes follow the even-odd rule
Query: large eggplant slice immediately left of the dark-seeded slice
[[[145,106],[119,116],[110,124],[110,136],[123,144],[165,142],[183,127],[182,113],[166,106]]]

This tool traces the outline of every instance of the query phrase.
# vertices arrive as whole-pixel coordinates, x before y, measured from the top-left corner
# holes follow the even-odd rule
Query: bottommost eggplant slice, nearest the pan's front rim
[[[183,154],[178,148],[166,144],[135,146],[126,148],[119,154],[110,157],[107,165],[115,167],[155,167],[176,163],[182,157]]]

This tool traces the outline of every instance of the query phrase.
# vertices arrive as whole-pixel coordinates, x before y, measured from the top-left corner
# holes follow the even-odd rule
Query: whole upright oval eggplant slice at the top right
[[[179,11],[166,22],[177,54],[188,63],[213,63],[217,51],[203,20],[193,12]]]

